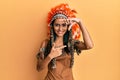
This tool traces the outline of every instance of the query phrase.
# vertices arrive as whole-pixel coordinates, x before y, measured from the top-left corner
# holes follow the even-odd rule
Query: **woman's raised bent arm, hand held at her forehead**
[[[82,24],[81,20],[78,18],[72,18],[71,19],[72,23],[78,23],[78,25],[80,26],[80,29],[82,31],[82,36],[83,36],[83,42],[80,41],[79,44],[76,44],[76,46],[80,49],[80,50],[87,50],[87,49],[91,49],[93,48],[94,44],[93,41],[90,37],[89,32],[87,31],[86,27]]]

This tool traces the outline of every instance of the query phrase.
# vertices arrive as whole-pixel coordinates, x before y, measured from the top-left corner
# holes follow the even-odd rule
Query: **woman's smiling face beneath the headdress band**
[[[68,29],[66,19],[64,18],[56,19],[53,26],[54,32],[56,33],[57,37],[63,37]]]

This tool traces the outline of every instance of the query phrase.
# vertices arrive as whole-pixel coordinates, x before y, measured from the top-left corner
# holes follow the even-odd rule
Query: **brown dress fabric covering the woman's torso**
[[[66,53],[57,57],[56,68],[48,67],[45,80],[73,80],[72,68],[70,68],[70,57],[71,56]]]

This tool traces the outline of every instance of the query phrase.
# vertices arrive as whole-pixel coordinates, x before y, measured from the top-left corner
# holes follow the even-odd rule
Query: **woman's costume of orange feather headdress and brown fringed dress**
[[[40,52],[37,54],[37,59],[42,61],[47,58],[52,44],[56,39],[56,36],[53,31],[53,21],[59,17],[67,18],[76,18],[74,15],[77,13],[75,10],[69,8],[68,4],[60,4],[51,9],[48,13],[48,35],[49,40],[46,40],[46,47],[41,48]],[[78,46],[82,45],[82,42],[79,41],[80,38],[80,27],[78,24],[74,24],[70,31],[67,31],[64,35],[64,45],[67,45],[62,51],[62,55],[56,58],[53,58],[48,64],[48,73],[45,80],[74,80],[72,75],[72,66],[74,64],[74,53],[78,55],[81,50]],[[49,58],[47,60],[50,60]],[[45,65],[45,62],[44,62]],[[41,66],[44,66],[41,65]],[[37,66],[40,68],[41,66]]]

